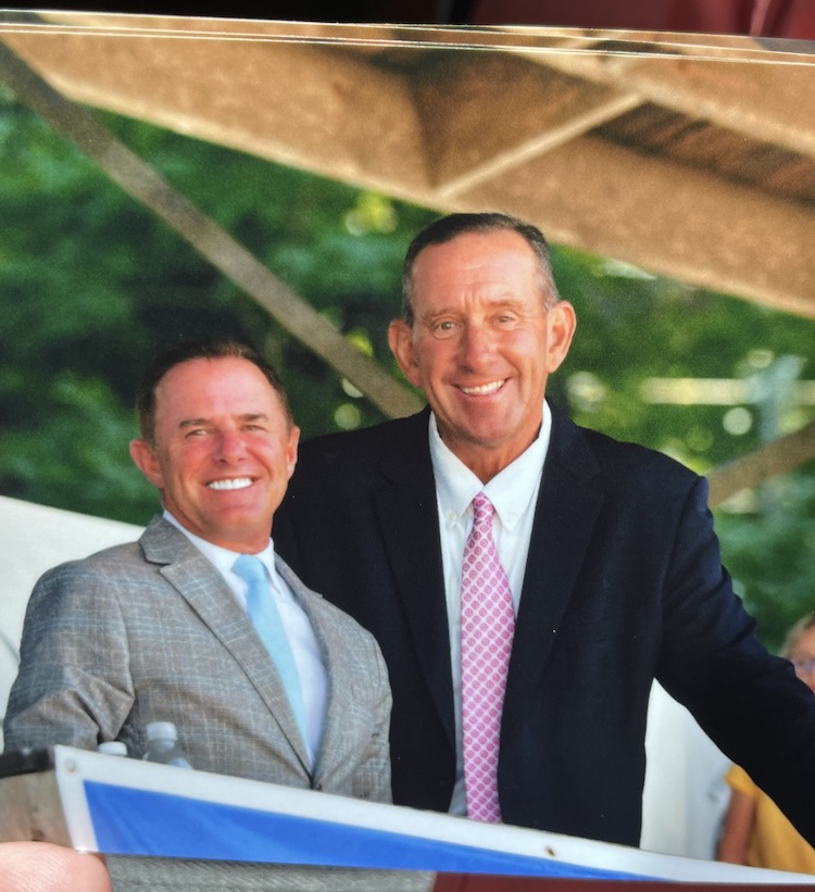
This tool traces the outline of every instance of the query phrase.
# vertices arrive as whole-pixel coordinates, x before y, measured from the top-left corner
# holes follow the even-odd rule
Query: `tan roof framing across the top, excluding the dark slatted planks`
[[[745,133],[791,127],[789,145],[805,148],[815,105],[795,115],[785,92],[812,76],[798,56],[791,71],[758,50],[737,63],[738,48],[710,40],[673,48],[690,59],[651,59],[592,51],[580,35],[565,52],[543,30],[456,32],[451,48],[422,29],[301,25],[301,39],[286,23],[250,39],[261,23],[206,35],[149,22],[5,39],[82,101],[440,211],[512,211],[553,241],[815,317],[811,205],[584,136],[651,97],[737,126],[732,102]],[[714,52],[723,61],[698,58]]]

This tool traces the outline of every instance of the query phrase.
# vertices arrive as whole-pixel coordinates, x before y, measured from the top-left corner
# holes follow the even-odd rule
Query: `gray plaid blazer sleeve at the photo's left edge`
[[[125,623],[110,580],[79,563],[49,570],[26,612],[5,749],[115,739],[134,702]]]

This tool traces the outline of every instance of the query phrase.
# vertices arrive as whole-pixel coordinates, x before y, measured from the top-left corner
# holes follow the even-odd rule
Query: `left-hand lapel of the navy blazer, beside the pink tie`
[[[386,485],[374,494],[374,510],[419,666],[454,745],[450,637],[428,418],[426,410],[400,425],[397,448],[380,465]]]

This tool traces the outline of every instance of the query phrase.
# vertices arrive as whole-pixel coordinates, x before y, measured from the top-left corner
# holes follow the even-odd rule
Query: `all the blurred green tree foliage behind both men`
[[[399,312],[404,249],[432,211],[102,117],[398,374],[387,325]],[[203,334],[235,336],[275,362],[306,437],[380,419],[348,382],[8,95],[0,95],[0,493],[146,523],[158,499],[127,455],[136,386],[159,344]],[[579,323],[551,393],[578,423],[705,473],[815,414],[780,392],[773,397],[769,378],[790,356],[798,357],[800,377],[815,376],[811,322],[574,250],[555,248],[554,266]],[[770,395],[758,406],[650,403],[643,385],[655,378],[755,378],[770,381]],[[718,512],[726,563],[773,646],[815,603],[813,508],[808,467]]]

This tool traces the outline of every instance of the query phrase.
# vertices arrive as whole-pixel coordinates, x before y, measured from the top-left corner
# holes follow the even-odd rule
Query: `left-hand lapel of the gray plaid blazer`
[[[162,517],[153,519],[140,544],[147,560],[163,565],[162,576],[243,670],[297,759],[310,772],[305,744],[274,661],[221,574],[183,532]]]

